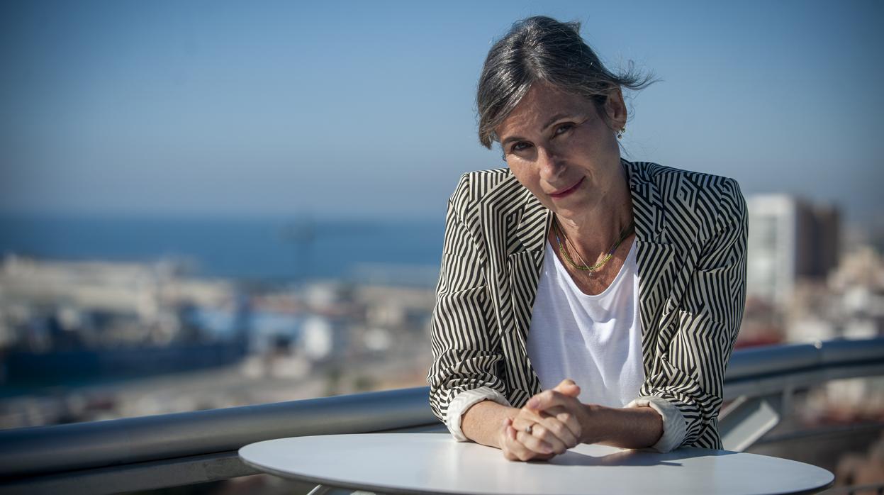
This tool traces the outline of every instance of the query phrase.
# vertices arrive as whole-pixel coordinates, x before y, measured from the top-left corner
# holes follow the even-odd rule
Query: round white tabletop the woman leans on
[[[385,493],[751,495],[813,493],[834,480],[802,462],[699,448],[582,445],[551,461],[510,462],[438,433],[278,438],[242,447],[240,458],[278,476]]]

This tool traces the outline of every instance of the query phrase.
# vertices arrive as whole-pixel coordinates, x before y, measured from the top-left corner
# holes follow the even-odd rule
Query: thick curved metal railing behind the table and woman
[[[779,421],[791,394],[828,380],[884,375],[884,338],[736,351],[720,431],[743,450]],[[240,446],[270,438],[446,431],[428,389],[370,392],[92,423],[0,431],[0,491],[112,493],[255,474]]]

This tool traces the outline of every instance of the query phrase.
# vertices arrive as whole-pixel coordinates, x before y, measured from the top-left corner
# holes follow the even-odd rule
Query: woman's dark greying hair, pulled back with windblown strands
[[[601,107],[614,89],[641,89],[654,82],[631,62],[620,74],[608,71],[580,37],[579,22],[544,16],[519,20],[494,43],[479,77],[476,108],[479,141],[485,148],[498,139],[494,128],[537,81],[592,100],[602,116],[606,112]]]

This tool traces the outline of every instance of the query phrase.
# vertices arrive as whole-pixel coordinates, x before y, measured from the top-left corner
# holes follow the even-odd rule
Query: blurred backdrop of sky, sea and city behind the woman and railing
[[[741,184],[738,347],[880,336],[882,13],[4,2],[0,428],[426,385],[446,200],[505,166],[478,144],[476,80],[537,14],[659,78],[629,95],[626,158]],[[807,391],[792,423],[880,425],[884,384]],[[841,456],[871,478],[876,438]],[[205,490],[291,489],[259,478]]]

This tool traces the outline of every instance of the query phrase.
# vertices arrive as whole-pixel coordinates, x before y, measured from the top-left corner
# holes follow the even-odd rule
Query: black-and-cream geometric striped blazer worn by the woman
[[[747,216],[733,179],[623,161],[636,232],[645,381],[685,422],[682,446],[720,448],[724,373],[745,303]],[[508,169],[464,174],[448,202],[431,318],[433,413],[491,387],[541,392],[527,350],[552,212]]]

